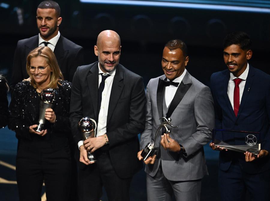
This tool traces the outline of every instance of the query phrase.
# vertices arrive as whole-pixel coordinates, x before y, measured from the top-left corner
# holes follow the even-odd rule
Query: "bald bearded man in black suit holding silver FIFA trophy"
[[[132,176],[142,167],[137,152],[138,134],[145,126],[143,78],[119,64],[121,41],[115,31],[102,31],[94,52],[98,61],[77,68],[71,90],[79,198],[98,201],[104,186],[108,200],[128,201]],[[82,141],[77,125],[85,116],[96,120],[97,131],[96,137]],[[95,154],[95,163],[87,151]]]

